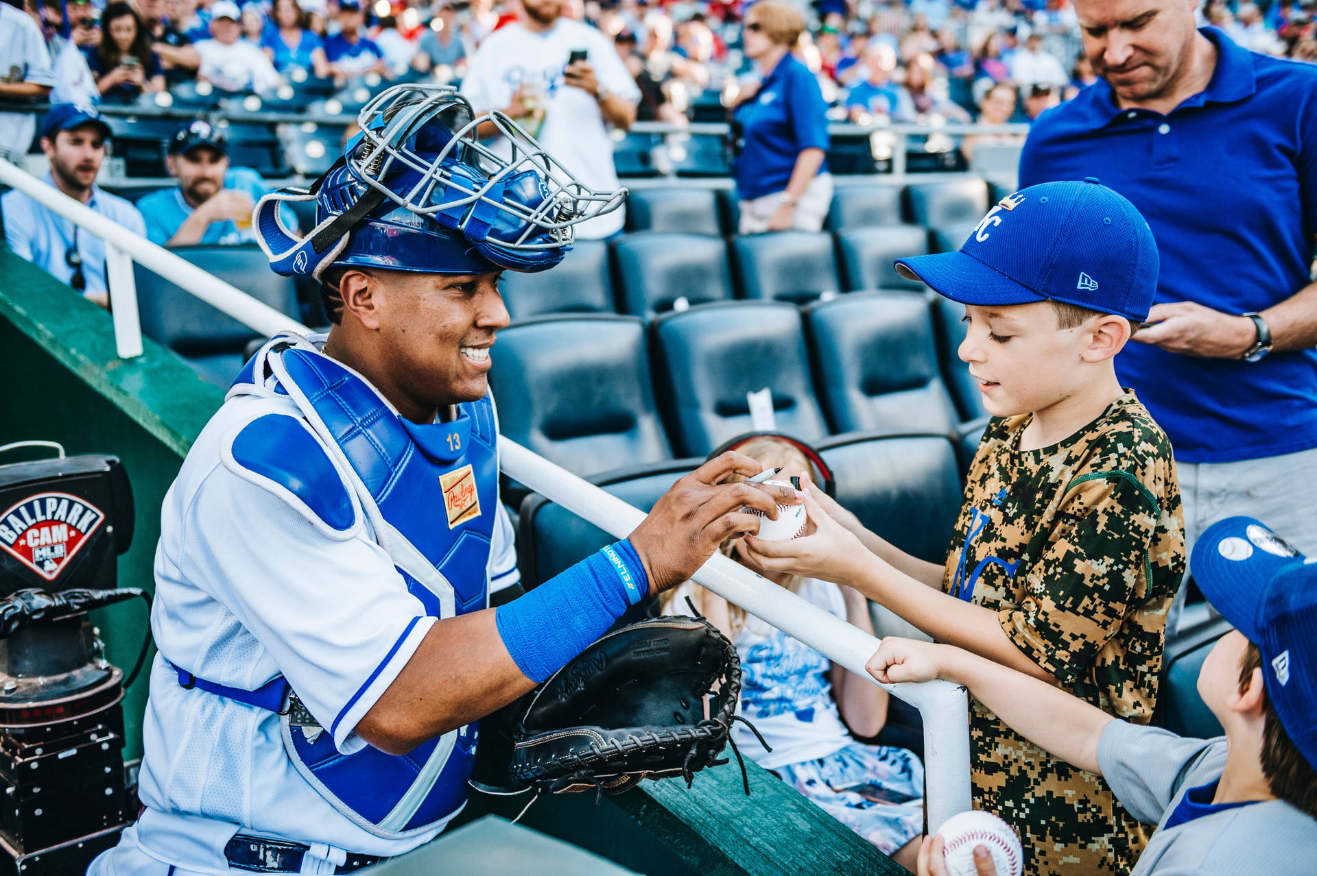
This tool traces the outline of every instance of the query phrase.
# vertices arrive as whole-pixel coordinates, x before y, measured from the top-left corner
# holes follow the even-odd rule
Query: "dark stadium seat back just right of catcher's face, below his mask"
[[[506,271],[499,283],[514,320],[544,313],[615,313],[608,245],[577,241],[557,267],[539,274]]]

